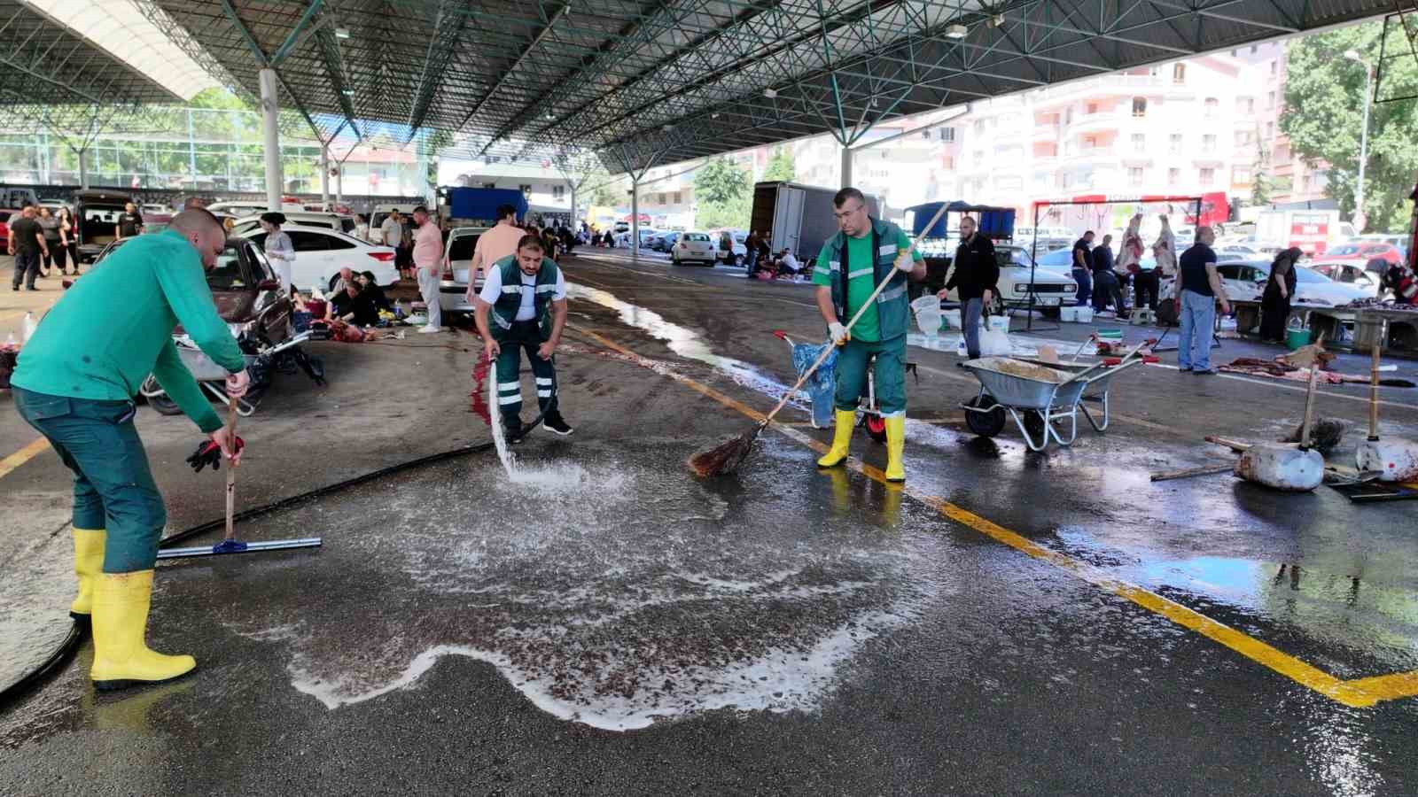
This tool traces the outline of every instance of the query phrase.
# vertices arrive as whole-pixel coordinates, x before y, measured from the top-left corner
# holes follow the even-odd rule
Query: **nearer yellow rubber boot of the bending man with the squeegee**
[[[94,669],[89,671],[95,689],[157,684],[197,667],[190,655],[147,650],[143,640],[152,598],[152,570],[99,574],[94,584]]]

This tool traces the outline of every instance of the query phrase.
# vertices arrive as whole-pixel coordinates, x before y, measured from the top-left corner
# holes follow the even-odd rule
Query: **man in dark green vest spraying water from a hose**
[[[515,255],[488,268],[474,316],[488,356],[498,359],[498,411],[516,442],[522,427],[522,349],[536,376],[542,425],[560,435],[571,434],[556,397],[556,346],[566,326],[566,277],[546,257],[542,240],[523,235]],[[491,325],[489,325],[491,319]]]

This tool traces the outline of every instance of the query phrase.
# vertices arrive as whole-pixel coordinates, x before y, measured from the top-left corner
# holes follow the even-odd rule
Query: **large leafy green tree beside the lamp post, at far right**
[[[1280,130],[1290,136],[1297,156],[1330,165],[1324,193],[1339,200],[1343,216],[1354,213],[1366,88],[1364,67],[1344,58],[1344,52],[1356,50],[1364,61],[1377,64],[1381,35],[1381,21],[1364,23],[1299,38],[1286,55],[1288,112],[1280,115]],[[1380,96],[1414,94],[1414,87],[1418,87],[1418,64],[1411,57],[1384,64]],[[1370,111],[1363,208],[1370,230],[1407,227],[1408,193],[1418,172],[1415,129],[1418,101],[1375,102]]]

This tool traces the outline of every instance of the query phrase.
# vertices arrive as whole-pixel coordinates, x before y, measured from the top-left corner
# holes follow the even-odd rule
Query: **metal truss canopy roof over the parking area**
[[[465,155],[596,150],[630,172],[822,132],[849,145],[883,119],[1392,9],[1391,0],[128,1],[228,85],[255,94],[257,72],[277,68],[286,99],[325,139],[366,135],[367,119],[408,138],[420,128],[457,133]],[[13,0],[0,7],[34,16]],[[4,85],[52,74],[30,62],[48,58],[45,47],[6,34],[31,58],[0,58],[10,67]],[[98,71],[123,77],[123,96],[170,99],[126,67]],[[48,96],[94,96],[92,72]]]

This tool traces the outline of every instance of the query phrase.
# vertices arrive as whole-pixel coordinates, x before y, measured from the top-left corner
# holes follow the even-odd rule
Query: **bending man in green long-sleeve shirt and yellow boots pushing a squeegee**
[[[179,213],[162,233],[125,240],[44,316],[11,379],[20,417],[74,471],[79,590],[69,614],[94,630],[89,676],[98,689],[167,681],[197,667],[190,655],[163,655],[145,642],[167,513],[133,427],[133,397],[152,373],[230,461],[240,458],[173,345],[180,323],[230,373],[227,394],[245,393],[245,357],[206,278],[225,243],[221,223],[201,208]]]

